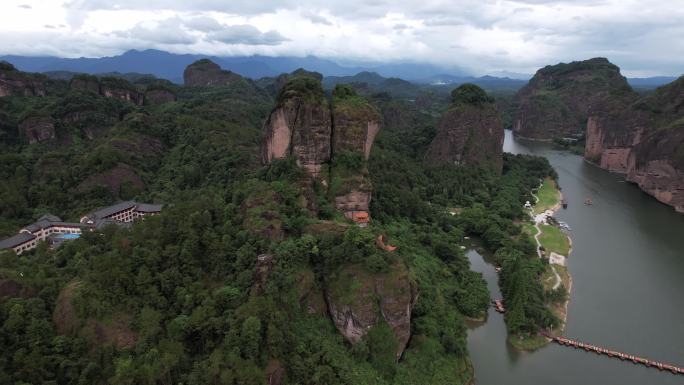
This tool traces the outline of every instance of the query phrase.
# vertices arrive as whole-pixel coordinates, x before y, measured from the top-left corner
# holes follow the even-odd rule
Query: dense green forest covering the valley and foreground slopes
[[[530,188],[553,174],[543,159],[506,156],[503,176],[425,168],[434,111],[378,95],[385,125],[363,229],[320,186],[303,187],[294,159],[261,166],[275,100],[250,81],[172,89],[177,101],[159,105],[55,84],[45,97],[0,98],[0,235],[119,199],[166,207],[56,250],[0,253],[0,384],[465,384],[464,319],[489,302],[465,235],[510,267],[511,333],[555,322],[536,280],[542,262],[516,224]],[[22,122],[38,115],[54,138],[28,144]],[[378,235],[397,249],[379,248]],[[372,317],[379,298],[407,295],[399,360],[392,325],[352,345],[328,314],[333,303]]]

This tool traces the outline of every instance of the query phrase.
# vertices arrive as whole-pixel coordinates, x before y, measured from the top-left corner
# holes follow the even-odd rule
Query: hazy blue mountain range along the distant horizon
[[[517,89],[522,87],[532,75],[501,72],[497,75],[474,77],[457,68],[442,68],[432,64],[391,63],[374,66],[343,66],[332,60],[315,56],[306,57],[270,57],[270,56],[234,56],[217,57],[197,54],[174,54],[159,50],[130,50],[121,55],[101,58],[60,58],[53,56],[0,56],[0,60],[14,64],[18,69],[27,72],[85,72],[103,74],[111,72],[151,74],[168,79],[174,83],[182,83],[183,70],[192,62],[209,58],[224,69],[242,76],[258,79],[292,72],[297,68],[317,71],[330,77],[327,83],[365,81],[369,84],[385,81],[386,78],[400,78],[419,84],[453,86],[462,83],[476,83],[483,88]],[[653,88],[675,80],[675,77],[658,76],[651,78],[628,79],[636,88]]]

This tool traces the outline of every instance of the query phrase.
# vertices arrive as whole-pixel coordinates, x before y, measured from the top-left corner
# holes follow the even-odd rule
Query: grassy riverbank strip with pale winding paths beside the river
[[[554,292],[564,288],[565,295],[562,299],[547,304],[560,321],[558,327],[550,332],[561,335],[567,322],[572,291],[572,277],[566,266],[566,259],[572,252],[572,239],[555,224],[549,224],[548,218],[561,208],[563,194],[553,179],[546,178],[533,196],[535,204],[530,208],[530,217],[534,225],[524,224],[523,230],[534,238],[537,255],[540,258],[549,258],[546,271],[541,276],[544,291]],[[526,351],[539,349],[549,343],[549,339],[542,336],[509,336],[508,341],[516,349]]]

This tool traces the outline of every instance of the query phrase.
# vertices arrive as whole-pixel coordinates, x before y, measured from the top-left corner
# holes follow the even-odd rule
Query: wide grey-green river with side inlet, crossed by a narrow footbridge
[[[545,156],[559,175],[571,227],[573,287],[564,336],[684,366],[684,215],[623,178],[550,144],[517,140],[504,151]],[[593,205],[583,204],[591,197]],[[494,268],[470,251],[494,298]],[[517,352],[506,344],[503,317],[490,308],[471,328],[468,348],[477,385],[684,384],[684,376],[556,344]]]

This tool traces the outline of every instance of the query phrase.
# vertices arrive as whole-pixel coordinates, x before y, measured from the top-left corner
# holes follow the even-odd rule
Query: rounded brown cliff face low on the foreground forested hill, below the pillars
[[[328,312],[337,330],[351,343],[360,341],[384,320],[397,341],[397,358],[411,335],[411,311],[418,291],[408,270],[395,264],[385,274],[368,274],[348,266],[328,282]]]

